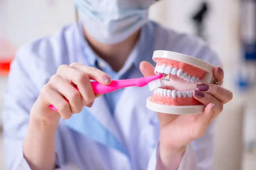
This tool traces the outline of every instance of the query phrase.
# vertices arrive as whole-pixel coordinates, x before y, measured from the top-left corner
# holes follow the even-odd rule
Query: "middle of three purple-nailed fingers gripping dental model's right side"
[[[219,85],[201,84],[201,85],[198,85],[198,90],[204,91],[207,94],[214,96],[223,104],[226,104],[227,102],[230,102],[230,100],[233,99],[233,93],[230,90],[223,88]]]

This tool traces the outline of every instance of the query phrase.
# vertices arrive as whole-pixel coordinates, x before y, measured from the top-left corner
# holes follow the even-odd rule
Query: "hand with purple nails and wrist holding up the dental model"
[[[144,76],[154,75],[154,67],[149,62],[140,63]],[[221,87],[224,71],[216,66],[213,75],[220,85],[202,84],[194,92],[194,97],[206,108],[201,114],[174,115],[157,113],[160,122],[160,169],[177,170],[186,145],[204,135],[207,127],[222,112],[223,105],[233,98],[233,93]]]

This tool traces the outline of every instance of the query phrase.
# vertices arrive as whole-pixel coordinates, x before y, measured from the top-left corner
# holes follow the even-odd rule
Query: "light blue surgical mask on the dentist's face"
[[[117,44],[148,21],[154,0],[73,0],[85,30],[97,41]]]

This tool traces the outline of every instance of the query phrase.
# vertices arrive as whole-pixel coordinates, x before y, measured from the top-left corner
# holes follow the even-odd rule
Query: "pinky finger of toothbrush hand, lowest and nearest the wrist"
[[[53,90],[49,84],[42,88],[40,94],[47,102],[47,105],[53,105],[58,109],[62,119],[69,119],[72,116],[70,104],[61,96],[61,94]]]

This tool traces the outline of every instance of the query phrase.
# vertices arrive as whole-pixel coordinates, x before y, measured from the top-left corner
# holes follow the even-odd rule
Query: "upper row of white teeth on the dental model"
[[[178,70],[177,68],[172,68],[171,65],[168,65],[167,67],[165,64],[157,65],[155,67],[154,72],[159,72],[159,73],[164,73],[164,74],[172,74],[172,75],[177,74],[178,77],[183,78],[187,82],[189,82],[189,81],[194,82],[194,83],[199,82],[199,77],[187,75],[187,73],[183,73],[183,69]]]

